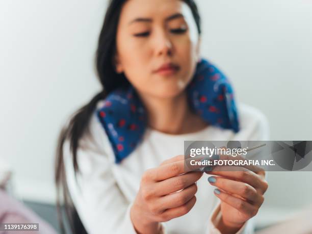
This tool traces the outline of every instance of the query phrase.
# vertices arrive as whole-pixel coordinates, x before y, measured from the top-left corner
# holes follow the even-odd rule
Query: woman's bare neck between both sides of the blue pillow
[[[170,98],[140,95],[148,114],[148,125],[168,134],[185,134],[201,130],[205,123],[189,108],[186,92]]]

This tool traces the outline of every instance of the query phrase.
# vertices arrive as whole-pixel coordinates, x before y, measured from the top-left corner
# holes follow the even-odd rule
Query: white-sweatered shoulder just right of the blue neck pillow
[[[250,141],[269,140],[269,121],[262,111],[245,103],[238,103],[238,115],[240,119],[240,132],[237,135],[239,137]]]

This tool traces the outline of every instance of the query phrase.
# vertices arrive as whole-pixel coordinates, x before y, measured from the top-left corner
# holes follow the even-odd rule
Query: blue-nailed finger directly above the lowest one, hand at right
[[[233,195],[237,194],[253,204],[261,205],[264,201],[263,195],[258,194],[255,188],[241,181],[231,180],[220,176],[211,176],[208,178],[211,185]]]

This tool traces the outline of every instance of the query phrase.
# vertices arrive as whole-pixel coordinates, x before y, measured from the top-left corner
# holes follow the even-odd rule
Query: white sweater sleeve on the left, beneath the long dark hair
[[[109,157],[110,147],[105,134],[92,117],[88,134],[79,142],[75,174],[69,142],[65,142],[64,164],[66,181],[72,202],[90,234],[136,234],[130,218],[132,203],[116,183]]]

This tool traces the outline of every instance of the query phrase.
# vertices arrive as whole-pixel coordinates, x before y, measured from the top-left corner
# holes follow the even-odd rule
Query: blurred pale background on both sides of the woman
[[[13,172],[14,195],[56,229],[56,140],[99,91],[94,53],[107,2],[0,2],[0,164]],[[312,140],[312,1],[196,3],[202,56],[229,76],[237,100],[267,116],[271,140]],[[311,177],[270,172],[258,227],[312,203]]]

